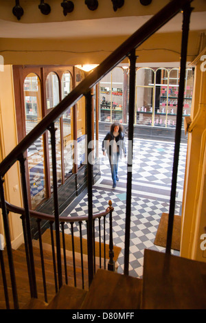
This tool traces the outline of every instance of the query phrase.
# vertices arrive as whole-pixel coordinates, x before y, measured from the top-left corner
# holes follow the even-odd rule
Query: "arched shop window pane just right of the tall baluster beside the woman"
[[[155,72],[149,68],[140,68],[136,72],[136,118],[137,125],[151,126],[153,111]]]

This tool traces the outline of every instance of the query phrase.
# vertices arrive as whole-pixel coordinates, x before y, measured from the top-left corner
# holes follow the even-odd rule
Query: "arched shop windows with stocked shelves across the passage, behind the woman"
[[[117,74],[122,70],[122,78]],[[140,67],[136,71],[135,125],[176,128],[179,68]],[[119,82],[121,80],[122,82]],[[183,118],[190,115],[194,71],[186,69]],[[115,87],[115,84],[117,87]],[[128,79],[115,67],[100,82],[100,121],[128,123]],[[112,104],[111,104],[112,102]],[[112,107],[111,107],[112,105]],[[126,115],[126,118],[124,118]]]

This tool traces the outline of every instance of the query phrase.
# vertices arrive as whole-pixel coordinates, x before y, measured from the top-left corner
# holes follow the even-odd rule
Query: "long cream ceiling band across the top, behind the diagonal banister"
[[[95,38],[133,34],[151,16],[62,21],[57,23],[20,23],[0,19],[0,38]],[[159,32],[179,32],[182,14],[177,14]],[[192,12],[190,30],[206,30],[206,12]]]

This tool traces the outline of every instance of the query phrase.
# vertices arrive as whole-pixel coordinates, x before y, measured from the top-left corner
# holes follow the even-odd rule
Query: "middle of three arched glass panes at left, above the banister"
[[[52,71],[46,80],[47,109],[54,108],[59,102],[59,82],[57,75]]]

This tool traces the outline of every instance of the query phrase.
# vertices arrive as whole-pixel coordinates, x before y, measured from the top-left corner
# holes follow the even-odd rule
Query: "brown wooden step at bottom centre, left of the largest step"
[[[139,309],[142,280],[98,269],[81,309]]]

